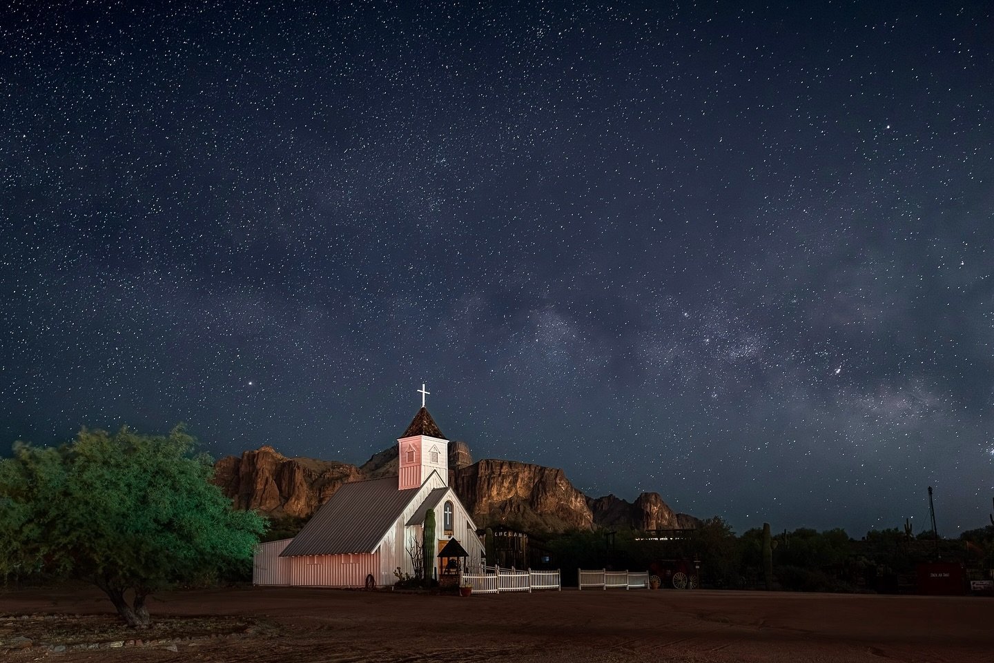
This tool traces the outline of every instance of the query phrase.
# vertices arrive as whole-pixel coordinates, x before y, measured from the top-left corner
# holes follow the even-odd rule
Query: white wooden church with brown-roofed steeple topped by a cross
[[[476,525],[448,485],[448,440],[424,407],[397,440],[399,475],[343,484],[292,539],[260,544],[252,583],[260,585],[388,586],[394,572],[414,575],[409,549],[421,545],[424,517],[435,513],[433,550],[455,539],[480,564]],[[435,577],[443,561],[432,555]]]

